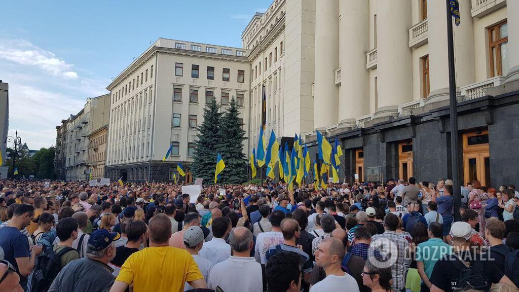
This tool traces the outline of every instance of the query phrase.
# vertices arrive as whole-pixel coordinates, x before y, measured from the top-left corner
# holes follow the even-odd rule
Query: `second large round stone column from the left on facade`
[[[340,0],[339,127],[355,124],[355,118],[370,111],[369,71],[366,52],[370,49],[369,1]]]

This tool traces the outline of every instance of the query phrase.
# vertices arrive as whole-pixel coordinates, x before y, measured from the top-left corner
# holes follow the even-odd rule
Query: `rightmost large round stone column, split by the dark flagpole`
[[[474,82],[474,35],[470,2],[460,5],[461,23],[454,27],[454,57],[456,60],[456,86]],[[447,56],[447,17],[445,1],[427,1],[427,26],[429,33],[429,81],[431,92],[428,103],[449,98]],[[420,64],[421,69],[421,64]]]

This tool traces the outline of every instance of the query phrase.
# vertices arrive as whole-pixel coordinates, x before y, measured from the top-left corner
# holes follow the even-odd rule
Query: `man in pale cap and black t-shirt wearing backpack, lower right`
[[[431,292],[452,292],[458,288],[490,290],[492,283],[508,284],[515,288],[513,282],[499,270],[494,261],[471,248],[472,228],[467,222],[454,222],[450,227],[453,253],[436,262],[430,278]],[[472,275],[460,277],[460,271],[472,268]],[[470,283],[469,283],[470,280]]]

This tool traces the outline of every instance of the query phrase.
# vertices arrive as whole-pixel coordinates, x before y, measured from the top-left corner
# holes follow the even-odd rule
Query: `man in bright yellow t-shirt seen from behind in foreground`
[[[149,220],[149,247],[132,254],[110,289],[123,292],[131,283],[134,291],[183,291],[187,282],[193,288],[207,288],[193,257],[185,250],[168,246],[171,221],[164,214]]]

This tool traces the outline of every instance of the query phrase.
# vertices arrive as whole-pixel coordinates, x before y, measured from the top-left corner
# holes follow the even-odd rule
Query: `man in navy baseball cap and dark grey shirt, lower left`
[[[98,229],[90,234],[87,256],[67,264],[54,278],[49,291],[102,292],[114,283],[113,269],[108,263],[116,254],[119,233]]]

